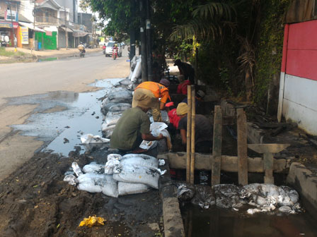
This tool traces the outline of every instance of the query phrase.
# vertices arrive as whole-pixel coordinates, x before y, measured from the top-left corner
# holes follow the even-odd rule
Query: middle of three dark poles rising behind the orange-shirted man
[[[146,33],[144,32],[144,25],[145,25],[145,11],[146,11],[146,2],[145,0],[140,0],[140,37],[141,37],[141,75],[142,75],[142,82],[149,80],[147,78],[147,63],[146,63]]]

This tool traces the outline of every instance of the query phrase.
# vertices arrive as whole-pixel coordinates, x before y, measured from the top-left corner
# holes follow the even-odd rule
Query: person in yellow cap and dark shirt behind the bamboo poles
[[[180,116],[178,129],[182,143],[186,144],[187,131],[187,113],[188,106],[186,103],[178,104],[176,114]],[[202,153],[209,153],[212,149],[212,125],[209,120],[202,114],[195,115],[195,151]]]

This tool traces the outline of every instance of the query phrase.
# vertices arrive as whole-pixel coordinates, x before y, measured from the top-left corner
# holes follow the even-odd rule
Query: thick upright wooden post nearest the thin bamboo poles
[[[219,105],[214,107],[214,141],[212,145],[212,186],[220,183],[222,145],[222,112]]]

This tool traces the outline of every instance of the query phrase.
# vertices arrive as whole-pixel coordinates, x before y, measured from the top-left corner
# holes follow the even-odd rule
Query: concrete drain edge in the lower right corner
[[[308,207],[307,210],[317,217],[316,212],[314,212],[317,209],[317,177],[313,176],[304,164],[294,162],[289,168],[287,184],[299,191],[301,197],[304,197],[304,202],[308,202],[305,203]]]

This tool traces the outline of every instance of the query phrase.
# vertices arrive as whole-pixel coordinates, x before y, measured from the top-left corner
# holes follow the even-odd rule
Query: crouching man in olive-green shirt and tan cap
[[[146,97],[138,95],[137,107],[127,109],[117,121],[110,139],[110,147],[122,152],[137,150],[142,140],[153,141],[163,139],[160,134],[154,137],[150,133],[150,120],[146,112],[150,109]]]

